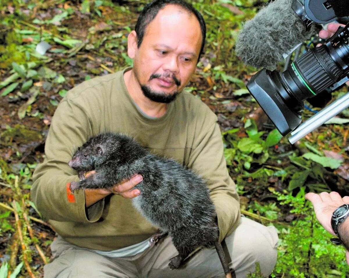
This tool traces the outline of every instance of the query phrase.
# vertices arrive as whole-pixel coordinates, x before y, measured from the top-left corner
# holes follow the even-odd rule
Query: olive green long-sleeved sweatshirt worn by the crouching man
[[[67,188],[67,183],[79,181],[67,164],[76,148],[98,133],[122,132],[207,179],[222,240],[238,225],[240,209],[215,114],[201,100],[182,92],[168,104],[164,116],[147,117],[129,96],[124,71],[81,83],[58,105],[44,162],[33,175],[31,196],[37,209],[59,235],[80,247],[115,250],[154,234],[157,227],[136,211],[131,199],[111,194],[86,209],[83,190],[72,194]]]

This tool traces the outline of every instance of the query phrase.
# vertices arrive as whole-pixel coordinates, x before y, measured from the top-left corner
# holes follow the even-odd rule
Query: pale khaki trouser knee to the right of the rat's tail
[[[278,236],[276,229],[242,218],[236,230],[226,238],[237,277],[255,271],[259,263],[264,276],[273,271],[277,258]]]

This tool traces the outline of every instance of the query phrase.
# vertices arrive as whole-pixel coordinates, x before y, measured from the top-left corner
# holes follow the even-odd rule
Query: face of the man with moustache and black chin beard
[[[130,56],[143,94],[156,102],[172,101],[194,73],[201,43],[195,15],[176,5],[159,10]]]

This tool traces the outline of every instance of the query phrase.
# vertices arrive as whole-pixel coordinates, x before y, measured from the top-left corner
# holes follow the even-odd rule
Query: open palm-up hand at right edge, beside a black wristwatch
[[[337,192],[321,192],[320,194],[307,193],[305,199],[313,206],[316,218],[325,230],[335,236],[331,227],[331,216],[335,209],[341,205],[349,204],[349,196],[341,197]],[[349,254],[348,254],[349,256]],[[347,257],[349,259],[349,257]]]

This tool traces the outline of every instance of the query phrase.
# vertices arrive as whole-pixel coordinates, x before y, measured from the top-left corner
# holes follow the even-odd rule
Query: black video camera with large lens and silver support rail
[[[326,24],[348,16],[349,3],[346,2],[349,1],[293,0],[292,9],[309,27],[313,23]],[[348,74],[349,23],[340,27],[324,45],[293,61],[284,72],[263,68],[252,76],[247,89],[283,136],[293,131],[289,141],[294,144],[349,107],[347,93],[297,128],[301,122],[303,101],[341,86],[348,80]]]

